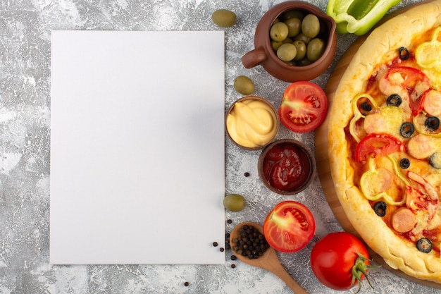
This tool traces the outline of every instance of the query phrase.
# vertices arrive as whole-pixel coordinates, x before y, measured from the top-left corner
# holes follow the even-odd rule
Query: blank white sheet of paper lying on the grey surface
[[[223,32],[51,38],[51,264],[223,264]]]

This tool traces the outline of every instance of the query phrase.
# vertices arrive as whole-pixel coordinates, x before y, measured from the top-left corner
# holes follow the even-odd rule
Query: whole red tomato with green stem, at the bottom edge
[[[311,251],[313,273],[323,285],[335,290],[347,290],[358,284],[358,293],[365,276],[371,285],[367,271],[376,267],[370,262],[366,246],[346,232],[325,235]]]

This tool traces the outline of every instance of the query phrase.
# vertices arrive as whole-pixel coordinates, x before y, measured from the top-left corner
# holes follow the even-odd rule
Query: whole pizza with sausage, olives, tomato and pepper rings
[[[330,98],[331,99],[331,98]],[[441,0],[376,27],[328,112],[328,158],[347,219],[393,269],[441,283]]]

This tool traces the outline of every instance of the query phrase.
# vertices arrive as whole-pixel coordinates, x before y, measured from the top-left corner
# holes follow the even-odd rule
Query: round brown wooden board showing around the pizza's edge
[[[421,4],[426,4],[427,2],[430,1],[426,1]],[[381,23],[384,23],[386,20],[394,16],[397,16],[400,13],[403,13],[409,8],[413,8],[421,4],[414,4],[399,9],[395,13],[392,13],[386,18],[384,18]],[[381,23],[379,23],[378,25],[380,25]],[[342,78],[344,71],[346,71],[347,66],[352,61],[352,56],[354,56],[356,51],[359,49],[361,44],[363,44],[363,42],[367,37],[368,34],[361,36],[354,41],[354,43],[349,47],[349,49],[347,49],[347,51],[343,54],[342,58],[335,66],[333,73],[330,75],[330,78],[328,79],[328,83],[325,86],[325,93],[328,96],[328,109],[331,109],[333,105],[335,90],[337,90],[337,86],[340,83],[340,79]],[[329,123],[329,117],[325,118],[325,121],[322,123],[322,125],[319,128],[316,129],[316,133],[315,133],[316,163],[317,163],[318,177],[320,178],[326,200],[328,201],[328,204],[332,209],[333,214],[335,215],[337,221],[340,223],[344,231],[353,233],[354,235],[360,238],[359,233],[357,233],[354,226],[352,226],[349,219],[347,219],[347,216],[344,213],[344,210],[340,204],[340,200],[338,200],[337,194],[335,192],[333,179],[330,174],[330,162],[328,158],[328,123]],[[404,274],[402,271],[392,269],[385,263],[384,259],[380,257],[380,255],[376,254],[370,248],[369,248],[369,254],[376,263],[380,264],[385,269],[392,271],[394,274],[397,274],[398,276],[402,276],[410,281],[421,283],[423,285],[430,286],[433,288],[441,288],[441,284],[439,283],[424,281],[418,278],[414,278],[412,276],[408,276]]]

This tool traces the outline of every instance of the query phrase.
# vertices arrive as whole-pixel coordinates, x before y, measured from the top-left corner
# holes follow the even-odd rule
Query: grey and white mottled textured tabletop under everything
[[[49,264],[49,152],[51,109],[51,30],[219,30],[211,13],[228,8],[237,24],[225,29],[225,109],[240,98],[232,87],[237,75],[248,75],[257,94],[280,102],[288,85],[258,66],[240,63],[253,48],[259,18],[281,1],[91,1],[3,0],[0,2],[0,293],[291,293],[271,273],[230,260],[221,266],[52,266]],[[309,1],[325,11],[327,1]],[[401,8],[418,1],[402,1]],[[396,9],[395,8],[395,9]],[[332,66],[313,80],[324,87],[335,63],[354,41],[338,39]],[[204,42],[204,40],[201,40]],[[178,44],[177,44],[178,46]],[[177,56],[178,58],[178,56]],[[173,81],[171,81],[173,82]],[[313,149],[313,133],[278,135],[302,140]],[[318,178],[299,195],[282,197],[261,184],[259,152],[246,152],[226,140],[225,193],[247,198],[242,212],[226,213],[225,230],[240,221],[262,223],[271,207],[285,199],[306,204],[317,222],[316,235],[304,250],[279,254],[287,271],[309,293],[342,293],[322,286],[313,276],[309,254],[316,241],[341,231],[328,207]],[[249,177],[244,173],[249,172]],[[231,264],[236,267],[232,269]],[[185,282],[189,285],[185,286]],[[390,273],[371,271],[375,289],[364,283],[361,293],[440,293]],[[344,293],[354,293],[353,290]]]

